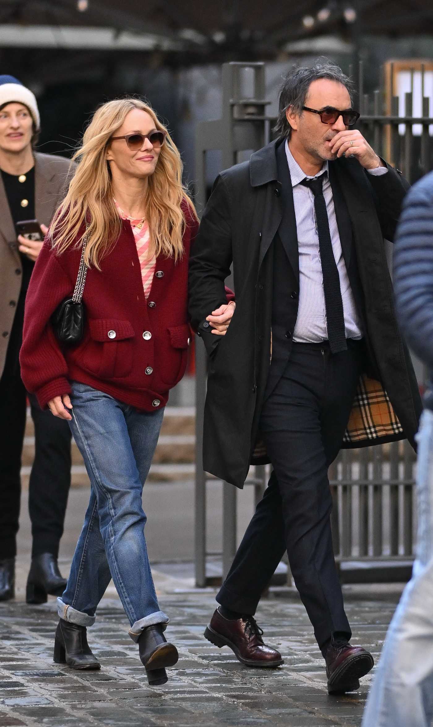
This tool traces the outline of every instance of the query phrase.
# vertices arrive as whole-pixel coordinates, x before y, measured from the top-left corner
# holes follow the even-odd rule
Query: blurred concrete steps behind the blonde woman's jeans
[[[194,406],[167,406],[161,434],[149,473],[149,480],[175,481],[194,477],[195,459]],[[23,487],[28,486],[34,458],[34,427],[28,409],[23,446]],[[72,442],[72,486],[89,486],[86,468],[76,443]]]

